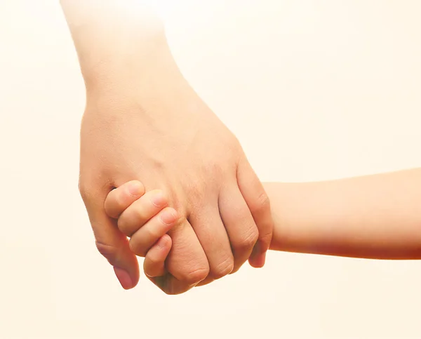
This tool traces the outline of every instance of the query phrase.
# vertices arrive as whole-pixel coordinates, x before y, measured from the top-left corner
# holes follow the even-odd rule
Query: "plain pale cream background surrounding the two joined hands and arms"
[[[262,180],[421,166],[421,3],[158,1]],[[123,291],[77,192],[84,88],[58,1],[0,0],[0,338],[421,338],[421,262],[270,253],[168,297]]]

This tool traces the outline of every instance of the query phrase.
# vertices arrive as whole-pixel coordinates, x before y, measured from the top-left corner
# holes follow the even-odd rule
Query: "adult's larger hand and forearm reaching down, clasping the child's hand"
[[[138,284],[135,255],[105,213],[107,194],[131,180],[166,192],[178,220],[168,234],[168,294],[262,267],[272,239],[267,194],[241,145],[199,98],[142,1],[62,0],[86,84],[79,190],[100,253],[124,288]],[[94,15],[95,14],[95,15]],[[134,250],[134,252],[132,251]]]

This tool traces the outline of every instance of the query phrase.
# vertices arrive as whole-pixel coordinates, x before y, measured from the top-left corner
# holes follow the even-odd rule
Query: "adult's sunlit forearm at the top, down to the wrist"
[[[148,2],[60,1],[88,89],[126,91],[128,83],[159,74],[173,62],[163,24]]]

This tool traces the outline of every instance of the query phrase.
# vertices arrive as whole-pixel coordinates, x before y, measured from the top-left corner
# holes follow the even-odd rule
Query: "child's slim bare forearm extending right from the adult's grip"
[[[421,258],[421,168],[309,183],[265,183],[277,251]]]

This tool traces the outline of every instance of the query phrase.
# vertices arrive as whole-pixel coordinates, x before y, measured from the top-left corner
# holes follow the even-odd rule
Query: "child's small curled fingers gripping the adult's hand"
[[[160,190],[145,193],[141,182],[130,181],[112,190],[105,199],[105,212],[117,220],[119,230],[130,238],[131,251],[145,257],[143,270],[149,277],[166,273],[165,260],[171,250],[171,237],[166,234],[178,221],[178,213],[167,207],[166,196]],[[125,272],[116,270],[123,288]],[[130,288],[130,287],[128,287]]]

